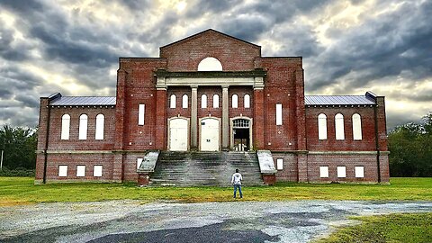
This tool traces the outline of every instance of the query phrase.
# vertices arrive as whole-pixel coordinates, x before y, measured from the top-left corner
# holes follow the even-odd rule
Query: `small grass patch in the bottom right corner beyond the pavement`
[[[338,229],[316,242],[432,242],[432,212],[352,218],[362,223]]]

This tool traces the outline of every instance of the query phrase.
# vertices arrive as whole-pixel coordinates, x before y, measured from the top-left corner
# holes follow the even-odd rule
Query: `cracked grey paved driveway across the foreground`
[[[350,215],[432,211],[432,202],[138,201],[0,208],[4,242],[308,242]]]

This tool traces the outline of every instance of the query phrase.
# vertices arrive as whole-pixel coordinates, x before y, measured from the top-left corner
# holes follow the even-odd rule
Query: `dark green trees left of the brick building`
[[[36,166],[37,130],[10,127],[0,129],[0,149],[4,150],[3,166],[9,169]]]

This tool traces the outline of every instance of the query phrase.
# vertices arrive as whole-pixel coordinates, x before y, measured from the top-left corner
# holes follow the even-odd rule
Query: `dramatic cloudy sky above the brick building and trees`
[[[386,96],[389,128],[432,111],[430,0],[1,0],[0,125],[36,126],[40,96],[115,95],[119,57],[207,29],[302,56],[306,94]]]

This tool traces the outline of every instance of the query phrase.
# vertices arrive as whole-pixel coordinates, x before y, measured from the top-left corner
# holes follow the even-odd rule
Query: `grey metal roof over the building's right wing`
[[[375,104],[374,100],[365,95],[305,95],[306,105],[317,104]]]

